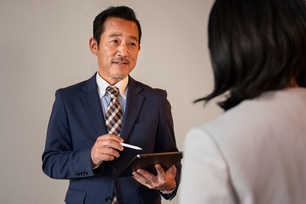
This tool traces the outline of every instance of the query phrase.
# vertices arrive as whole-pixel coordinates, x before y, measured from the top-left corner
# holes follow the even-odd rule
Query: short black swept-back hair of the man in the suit
[[[111,17],[135,22],[138,27],[138,44],[140,44],[141,26],[139,21],[136,19],[134,11],[127,6],[111,6],[102,11],[93,21],[93,38],[97,41],[98,45],[100,43],[101,35],[105,30],[104,23]]]

